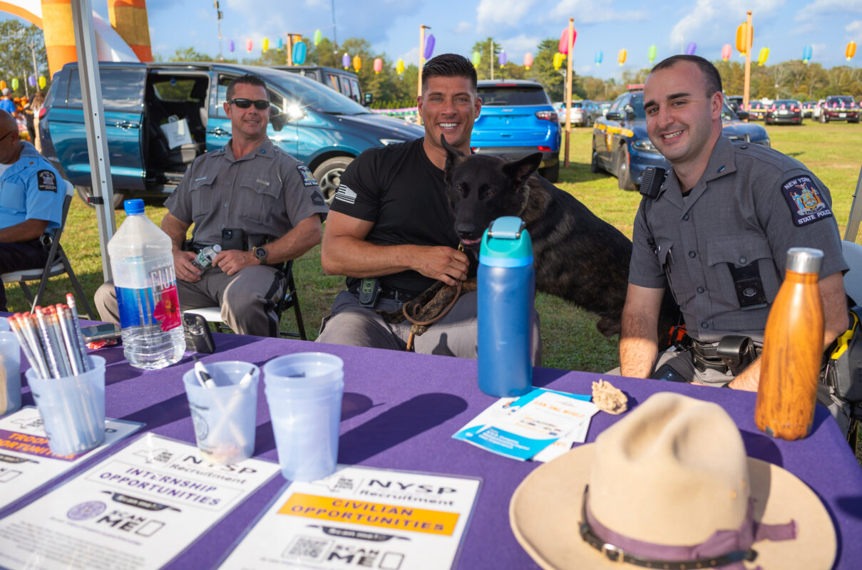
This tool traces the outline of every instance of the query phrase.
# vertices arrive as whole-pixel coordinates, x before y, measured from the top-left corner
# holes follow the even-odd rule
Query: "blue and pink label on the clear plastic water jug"
[[[159,325],[170,331],[181,324],[177,276],[173,266],[149,272],[146,288],[116,287],[120,326]]]

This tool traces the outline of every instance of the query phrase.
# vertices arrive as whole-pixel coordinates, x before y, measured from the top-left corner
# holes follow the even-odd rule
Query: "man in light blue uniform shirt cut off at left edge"
[[[59,227],[65,198],[57,170],[33,145],[18,139],[15,118],[0,110],[0,274],[45,266],[41,236]],[[5,310],[0,282],[0,311]]]

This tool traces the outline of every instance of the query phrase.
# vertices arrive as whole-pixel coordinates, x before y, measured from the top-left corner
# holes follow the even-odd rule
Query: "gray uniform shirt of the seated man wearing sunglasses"
[[[165,201],[173,216],[194,222],[192,240],[218,244],[222,229],[278,239],[310,215],[328,212],[311,171],[265,139],[234,158],[230,143],[195,159]]]

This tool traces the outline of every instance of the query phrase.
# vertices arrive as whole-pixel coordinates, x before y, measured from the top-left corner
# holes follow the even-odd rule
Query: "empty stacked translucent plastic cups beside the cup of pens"
[[[264,364],[264,384],[284,478],[309,481],[332,474],[344,362],[323,352],[278,356]]]

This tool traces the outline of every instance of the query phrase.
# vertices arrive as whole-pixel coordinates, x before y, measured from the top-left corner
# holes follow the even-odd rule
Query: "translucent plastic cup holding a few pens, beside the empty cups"
[[[195,369],[183,375],[195,426],[197,449],[213,465],[241,462],[254,453],[260,369],[250,362],[206,365],[211,387],[201,386]],[[251,372],[251,380],[243,381]]]

